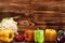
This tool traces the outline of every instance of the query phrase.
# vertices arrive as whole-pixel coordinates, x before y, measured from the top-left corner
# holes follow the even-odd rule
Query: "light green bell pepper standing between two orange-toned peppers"
[[[44,41],[43,30],[35,30],[35,42],[42,43]]]

